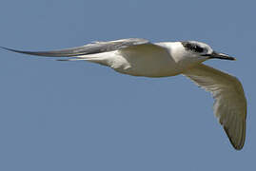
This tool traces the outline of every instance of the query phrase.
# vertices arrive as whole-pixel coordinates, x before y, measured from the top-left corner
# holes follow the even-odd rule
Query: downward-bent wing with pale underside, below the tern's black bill
[[[242,149],[246,139],[246,97],[239,80],[203,64],[187,70],[184,75],[211,92],[215,116],[233,147]]]

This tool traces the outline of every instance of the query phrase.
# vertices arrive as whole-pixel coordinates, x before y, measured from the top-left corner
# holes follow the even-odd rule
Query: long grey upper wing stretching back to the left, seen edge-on
[[[116,40],[116,41],[109,41],[109,42],[95,42],[82,47],[71,47],[71,48],[52,50],[52,51],[24,51],[24,50],[17,50],[17,49],[12,49],[8,47],[2,47],[2,48],[13,51],[13,52],[17,52],[17,53],[25,53],[25,54],[37,55],[37,56],[75,57],[80,55],[107,52],[107,51],[122,49],[126,47],[131,47],[131,46],[143,45],[143,44],[149,44],[149,41],[146,39],[140,39],[140,38],[129,38],[129,39]]]

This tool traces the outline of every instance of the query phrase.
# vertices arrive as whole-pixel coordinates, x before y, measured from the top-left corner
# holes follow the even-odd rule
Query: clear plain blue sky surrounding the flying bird
[[[87,62],[0,50],[0,170],[169,171],[256,168],[256,1],[1,0],[0,46],[75,47],[140,37],[197,40],[237,61],[247,98],[236,151],[213,99],[183,76],[149,79]]]

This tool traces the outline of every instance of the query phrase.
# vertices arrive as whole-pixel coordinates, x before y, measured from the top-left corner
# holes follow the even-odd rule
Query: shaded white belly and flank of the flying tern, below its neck
[[[83,57],[87,61],[109,66],[118,72],[133,76],[167,77],[182,72],[167,50],[148,45]]]

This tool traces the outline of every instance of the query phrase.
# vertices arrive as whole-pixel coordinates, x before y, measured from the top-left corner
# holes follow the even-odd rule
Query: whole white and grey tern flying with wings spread
[[[150,43],[130,38],[109,42],[95,42],[83,47],[53,51],[22,51],[2,47],[18,53],[49,57],[70,57],[58,61],[85,60],[109,66],[115,71],[144,77],[167,77],[183,74],[196,85],[211,92],[214,114],[237,150],[246,138],[246,97],[237,78],[202,63],[208,59],[235,60],[213,51],[207,44],[186,42]]]

